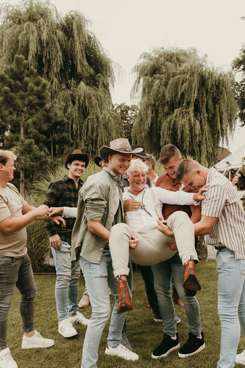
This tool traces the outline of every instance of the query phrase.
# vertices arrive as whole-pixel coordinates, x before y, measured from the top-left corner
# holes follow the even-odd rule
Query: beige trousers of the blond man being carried
[[[198,261],[195,251],[194,224],[187,213],[174,212],[167,219],[167,226],[173,230],[174,237],[168,237],[157,230],[157,223],[156,226],[145,226],[138,231],[134,231],[124,223],[112,226],[109,247],[114,276],[129,275],[127,267],[129,257],[133,262],[142,266],[155,265],[171,258],[175,251],[172,251],[167,243],[177,244],[183,265],[191,255]],[[138,237],[139,243],[136,249],[129,249],[129,240],[133,234]]]

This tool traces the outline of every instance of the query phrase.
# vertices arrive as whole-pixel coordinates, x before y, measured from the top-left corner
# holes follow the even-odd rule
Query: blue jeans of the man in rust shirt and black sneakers
[[[201,333],[200,307],[196,297],[185,295],[183,288],[184,267],[179,252],[177,251],[167,261],[153,265],[152,270],[154,275],[154,289],[158,298],[164,333],[166,335],[176,336],[175,312],[173,299],[170,294],[171,281],[174,275],[175,288],[185,306],[189,332],[198,336]]]

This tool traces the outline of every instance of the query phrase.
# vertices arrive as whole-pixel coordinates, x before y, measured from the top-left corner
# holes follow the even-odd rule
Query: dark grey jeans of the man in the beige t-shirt
[[[34,330],[34,299],[37,293],[30,258],[0,257],[0,350],[7,347],[8,312],[15,286],[21,294],[19,312],[22,331]]]

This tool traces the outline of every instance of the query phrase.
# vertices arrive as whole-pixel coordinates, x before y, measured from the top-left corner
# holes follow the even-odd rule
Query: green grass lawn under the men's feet
[[[139,356],[136,362],[125,361],[120,358],[104,354],[109,322],[105,326],[98,351],[99,368],[117,367],[169,367],[169,368],[192,368],[192,367],[217,367],[220,351],[220,321],[217,314],[217,274],[216,262],[202,261],[197,266],[198,278],[202,290],[197,293],[201,307],[202,331],[204,333],[206,348],[199,354],[189,358],[179,358],[178,352],[170,353],[166,358],[158,360],[151,358],[151,353],[162,341],[163,330],[161,323],[153,321],[151,309],[145,308],[147,298],[144,283],[140,273],[134,275],[133,286],[133,311],[127,316],[127,336]],[[19,293],[15,290],[13,305],[8,318],[8,347],[12,357],[19,368],[79,368],[81,365],[83,339],[86,326],[75,324],[78,335],[74,338],[65,339],[58,333],[58,318],[55,307],[54,287],[55,275],[35,275],[37,296],[35,302],[35,328],[44,336],[53,339],[55,345],[43,349],[21,349],[21,318],[18,310]],[[84,291],[84,278],[80,278],[79,296]],[[111,296],[111,306],[113,297]],[[86,318],[91,316],[91,306],[80,309]],[[175,304],[176,315],[181,318],[177,326],[180,346],[188,338],[188,321],[185,309]],[[245,338],[241,333],[238,353],[245,347]],[[236,365],[242,367],[242,365]]]

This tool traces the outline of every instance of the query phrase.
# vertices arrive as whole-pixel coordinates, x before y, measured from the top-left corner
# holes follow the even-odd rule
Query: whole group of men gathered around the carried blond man
[[[138,360],[126,337],[126,314],[132,306],[131,260],[140,265],[154,320],[162,321],[164,335],[152,358],[180,348],[171,283],[184,304],[189,338],[179,349],[185,358],[205,348],[200,308],[201,289],[195,273],[195,237],[208,234],[217,248],[218,312],[221,349],[218,368],[232,368],[240,326],[245,332],[245,212],[228,179],[194,160],[183,160],[174,145],[162,148],[159,160],[165,173],[157,177],[153,155],[125,138],[102,146],[95,162],[101,170],[83,184],[80,177],[90,155],[79,150],[65,156],[69,174],[48,188],[44,205],[29,206],[17,188],[11,151],[0,151],[0,368],[16,368],[7,347],[7,320],[15,285],[20,291],[24,331],[22,348],[49,347],[34,329],[36,286],[26,253],[25,226],[45,220],[57,280],[55,300],[58,332],[77,334],[73,323],[87,325],[82,368],[96,368],[98,346],[111,314],[108,287],[114,298],[105,354]],[[147,175],[148,174],[148,175]],[[92,307],[90,320],[79,312],[78,284],[82,269]],[[239,316],[239,321],[238,321]]]

